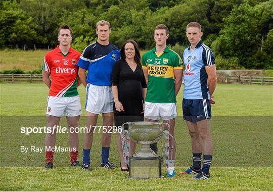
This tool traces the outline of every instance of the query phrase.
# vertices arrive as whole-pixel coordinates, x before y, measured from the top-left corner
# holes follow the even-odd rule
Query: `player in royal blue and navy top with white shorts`
[[[109,161],[111,128],[114,121],[111,74],[114,63],[120,59],[120,52],[115,45],[109,43],[111,33],[109,22],[99,21],[96,25],[96,33],[98,40],[85,47],[77,63],[79,77],[87,90],[85,110],[88,132],[83,134],[82,166],[82,169],[85,170],[91,170],[90,151],[95,131],[103,132],[101,167],[115,168],[113,163]],[[86,70],[88,70],[87,77]],[[100,113],[102,113],[104,127],[95,129]]]

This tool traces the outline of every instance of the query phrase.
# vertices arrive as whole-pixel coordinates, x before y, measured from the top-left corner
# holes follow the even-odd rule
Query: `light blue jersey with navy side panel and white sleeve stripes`
[[[202,41],[191,52],[190,46],[184,50],[184,98],[188,100],[210,99],[208,75],[205,66],[214,65],[212,51]]]

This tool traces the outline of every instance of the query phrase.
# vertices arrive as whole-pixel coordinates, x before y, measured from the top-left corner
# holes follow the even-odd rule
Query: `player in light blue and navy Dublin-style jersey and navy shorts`
[[[189,23],[186,35],[191,46],[183,53],[183,115],[192,138],[193,165],[182,173],[196,174],[193,179],[208,179],[213,151],[210,105],[215,104],[212,94],[216,87],[216,68],[212,51],[201,41],[201,25],[197,22]]]

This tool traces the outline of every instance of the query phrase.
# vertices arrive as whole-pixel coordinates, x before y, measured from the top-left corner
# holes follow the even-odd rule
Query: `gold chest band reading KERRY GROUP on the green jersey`
[[[151,65],[147,64],[148,75],[174,79],[173,67],[169,65]]]

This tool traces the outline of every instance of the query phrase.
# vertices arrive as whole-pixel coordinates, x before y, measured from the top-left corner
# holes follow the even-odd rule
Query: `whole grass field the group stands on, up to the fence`
[[[183,88],[183,87],[182,87]],[[135,180],[119,169],[104,170],[100,161],[100,135],[94,135],[92,172],[69,167],[69,154],[56,153],[53,170],[45,170],[44,153],[20,153],[21,145],[43,146],[44,134],[24,135],[21,126],[45,125],[48,88],[44,84],[0,84],[1,174],[0,190],[272,190],[273,86],[217,85],[212,106],[211,130],[214,156],[211,179],[192,181],[190,176]],[[85,89],[79,87],[82,110]],[[177,97],[181,116],[183,91]],[[16,116],[16,117],[13,117]],[[85,125],[83,110],[80,125]],[[101,120],[98,124],[101,124]],[[65,119],[61,125],[65,126]],[[181,117],[176,121],[176,171],[191,164],[190,138]],[[82,135],[80,135],[79,158]],[[67,135],[59,134],[56,145],[68,146]],[[159,145],[160,146],[160,145]],[[97,158],[99,157],[99,158]],[[110,159],[118,166],[116,134],[112,136]],[[162,168],[165,174],[165,168]],[[12,182],[11,182],[12,181]]]

